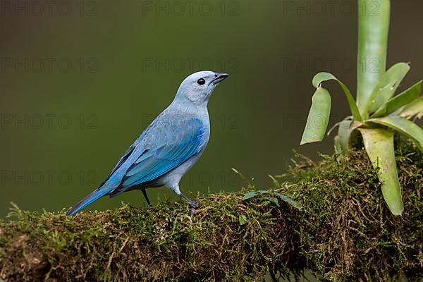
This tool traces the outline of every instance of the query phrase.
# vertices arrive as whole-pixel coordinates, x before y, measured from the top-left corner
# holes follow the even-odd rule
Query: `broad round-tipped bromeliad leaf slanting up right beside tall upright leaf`
[[[368,113],[376,111],[388,99],[393,97],[400,82],[403,81],[409,70],[410,66],[407,63],[396,63],[391,66],[374,87],[372,94],[370,94],[367,100],[367,104],[364,106],[363,114],[367,116]]]

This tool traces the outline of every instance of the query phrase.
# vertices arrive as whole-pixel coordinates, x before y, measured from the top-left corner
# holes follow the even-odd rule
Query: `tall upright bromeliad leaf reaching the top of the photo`
[[[386,70],[390,1],[359,0],[358,7],[357,106],[367,117],[364,107]]]

